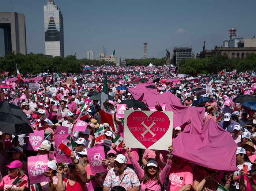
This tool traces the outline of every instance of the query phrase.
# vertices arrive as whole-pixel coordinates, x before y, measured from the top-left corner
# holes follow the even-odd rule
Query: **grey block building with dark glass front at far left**
[[[25,15],[0,12],[0,56],[12,50],[27,54]]]

